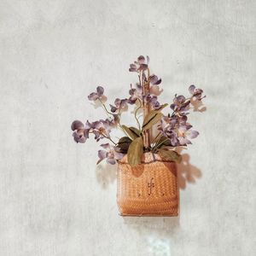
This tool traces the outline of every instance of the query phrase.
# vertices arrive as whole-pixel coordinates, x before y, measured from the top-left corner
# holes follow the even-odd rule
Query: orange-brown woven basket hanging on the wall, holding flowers
[[[122,216],[177,216],[176,164],[145,153],[143,163],[131,167],[127,155],[119,161],[117,203]]]

